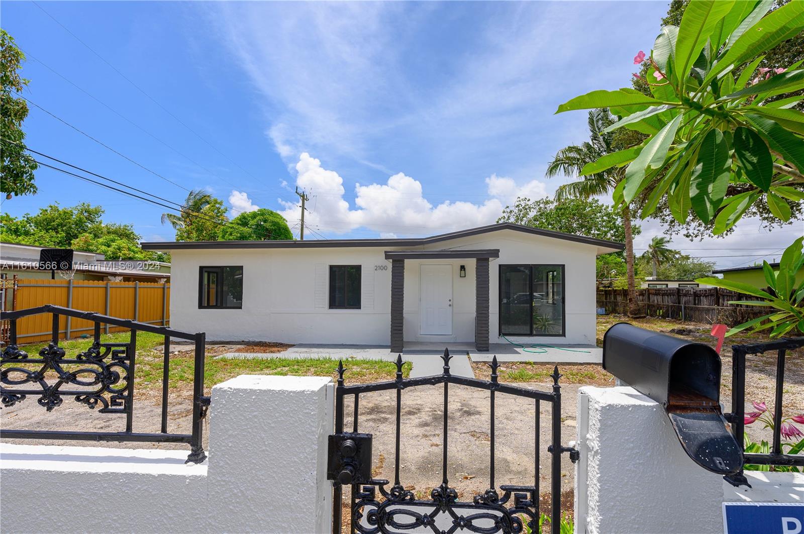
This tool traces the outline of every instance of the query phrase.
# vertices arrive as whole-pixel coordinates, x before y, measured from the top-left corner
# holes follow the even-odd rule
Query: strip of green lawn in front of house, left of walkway
[[[127,343],[130,339],[129,332],[117,332],[109,335],[101,335],[101,343]],[[149,332],[137,332],[137,360],[135,369],[136,392],[161,392],[162,391],[162,372],[163,360],[162,345],[164,336],[150,334]],[[87,350],[92,345],[92,338],[70,339],[59,341],[59,347],[64,348],[68,358],[75,357],[81,351]],[[36,355],[39,349],[47,347],[47,342],[31,343],[21,346],[23,351],[30,355]],[[335,368],[338,361],[328,358],[255,358],[255,359],[235,359],[221,358],[215,359],[214,350],[207,346],[207,359],[204,362],[204,386],[207,392],[215,385],[239,375],[293,375],[293,376],[331,376],[335,378],[337,373]],[[392,362],[349,359],[344,362],[347,372],[345,378],[347,384],[375,382],[379,380],[392,380],[396,375],[396,364]],[[19,364],[18,367],[39,368],[35,364]],[[75,372],[80,368],[88,368],[86,364],[65,364],[64,369],[68,372]],[[168,388],[175,390],[191,390],[193,384],[193,372],[195,368],[195,355],[191,347],[186,351],[176,351],[170,355],[170,372],[168,374]],[[406,363],[402,366],[405,377],[410,375],[412,364]],[[84,375],[86,379],[88,376]]]

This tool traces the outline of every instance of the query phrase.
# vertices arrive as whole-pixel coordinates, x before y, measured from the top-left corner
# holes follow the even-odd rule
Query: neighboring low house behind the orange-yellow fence
[[[162,261],[107,261],[103,254],[75,250],[72,268],[39,269],[39,252],[47,247],[30,244],[0,243],[0,277],[94,281],[170,281],[170,264]]]

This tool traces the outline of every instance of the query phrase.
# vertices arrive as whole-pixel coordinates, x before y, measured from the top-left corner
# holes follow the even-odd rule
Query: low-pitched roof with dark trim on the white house
[[[523,224],[498,223],[481,226],[479,228],[469,228],[457,232],[449,232],[430,237],[411,237],[411,238],[392,238],[392,239],[326,239],[326,240],[265,240],[265,241],[162,241],[162,242],[143,242],[142,249],[145,250],[187,250],[187,249],[314,249],[314,248],[335,248],[335,247],[417,247],[427,244],[440,243],[460,239],[461,237],[478,236],[500,230],[513,230],[536,236],[552,237],[576,243],[591,244],[599,249],[609,249],[599,251],[599,253],[609,253],[625,249],[625,245],[615,241],[605,239],[595,239],[593,237],[576,236],[574,234],[555,232],[553,230],[543,230],[542,228],[531,228]]]

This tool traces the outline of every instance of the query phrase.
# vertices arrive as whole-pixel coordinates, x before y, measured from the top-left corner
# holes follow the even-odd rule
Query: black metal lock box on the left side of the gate
[[[371,480],[371,434],[332,434],[327,456],[327,480],[344,486]]]

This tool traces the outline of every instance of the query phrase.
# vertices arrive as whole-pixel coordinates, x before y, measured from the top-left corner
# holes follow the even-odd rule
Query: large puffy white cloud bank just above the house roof
[[[404,173],[388,178],[386,183],[355,185],[354,206],[344,198],[343,178],[321,162],[302,153],[296,164],[298,187],[315,198],[314,210],[305,216],[305,224],[321,232],[347,233],[367,228],[381,235],[433,234],[460,228],[492,224],[507,203],[518,195],[531,199],[546,196],[544,183],[538,180],[519,185],[511,178],[491,175],[486,179],[488,197],[479,203],[445,201],[436,205],[425,198],[421,183]],[[281,212],[291,224],[299,219],[296,203],[282,202]]]

